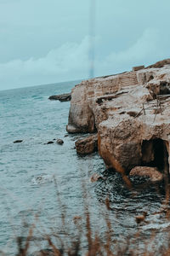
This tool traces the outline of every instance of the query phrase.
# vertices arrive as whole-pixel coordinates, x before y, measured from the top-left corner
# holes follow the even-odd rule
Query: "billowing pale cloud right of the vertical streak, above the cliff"
[[[104,70],[122,71],[127,70],[135,65],[147,65],[169,55],[168,44],[161,44],[161,32],[155,28],[147,28],[144,30],[140,38],[134,44],[122,51],[111,52],[103,61]],[[169,36],[164,40],[169,41]],[[126,40],[126,38],[125,38]],[[101,72],[101,67],[100,67]]]

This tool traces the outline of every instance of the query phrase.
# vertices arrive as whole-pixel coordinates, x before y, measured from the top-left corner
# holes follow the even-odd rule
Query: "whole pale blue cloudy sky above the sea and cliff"
[[[89,78],[94,0],[0,0],[0,90]],[[169,58],[169,0],[95,0],[94,76]]]

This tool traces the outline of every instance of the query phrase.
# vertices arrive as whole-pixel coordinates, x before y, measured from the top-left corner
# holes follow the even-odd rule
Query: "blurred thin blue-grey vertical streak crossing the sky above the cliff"
[[[95,0],[90,0],[89,15],[89,78],[94,78],[94,57],[95,57]]]

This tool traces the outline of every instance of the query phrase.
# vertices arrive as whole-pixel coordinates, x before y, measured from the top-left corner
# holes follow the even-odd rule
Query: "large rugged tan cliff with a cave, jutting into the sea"
[[[105,165],[123,173],[170,164],[170,60],[141,68],[82,81],[71,92],[67,131],[97,130]]]

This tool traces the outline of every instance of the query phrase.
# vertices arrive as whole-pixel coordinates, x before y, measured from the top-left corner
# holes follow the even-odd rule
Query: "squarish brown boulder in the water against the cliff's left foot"
[[[96,152],[98,150],[98,135],[94,134],[77,140],[75,143],[77,154],[86,155]]]

